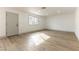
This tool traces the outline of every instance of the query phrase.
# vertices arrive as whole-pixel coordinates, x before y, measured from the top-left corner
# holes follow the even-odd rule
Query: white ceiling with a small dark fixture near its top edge
[[[23,12],[30,12],[36,15],[49,16],[57,14],[67,14],[74,13],[75,7],[46,7],[46,9],[41,9],[41,7],[16,7],[14,8]]]

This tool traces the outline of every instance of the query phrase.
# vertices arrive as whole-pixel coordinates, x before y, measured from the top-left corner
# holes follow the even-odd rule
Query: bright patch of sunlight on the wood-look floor
[[[35,45],[39,45],[39,44],[41,44],[42,42],[44,42],[45,40],[47,40],[49,38],[50,38],[50,36],[48,36],[45,33],[38,33],[38,34],[35,34],[35,35],[31,36],[31,39],[30,40]]]

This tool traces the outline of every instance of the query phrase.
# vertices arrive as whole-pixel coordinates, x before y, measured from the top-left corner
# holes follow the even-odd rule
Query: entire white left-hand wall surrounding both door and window
[[[40,23],[35,26],[30,26],[28,25],[28,16],[31,14],[10,8],[0,8],[0,36],[6,36],[6,11],[17,13],[19,15],[19,33],[44,29],[44,17],[34,15],[36,17],[39,17]]]

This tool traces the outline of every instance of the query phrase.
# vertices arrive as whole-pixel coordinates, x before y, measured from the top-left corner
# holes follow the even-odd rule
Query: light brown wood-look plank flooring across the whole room
[[[79,51],[74,33],[43,30],[0,39],[1,51]]]

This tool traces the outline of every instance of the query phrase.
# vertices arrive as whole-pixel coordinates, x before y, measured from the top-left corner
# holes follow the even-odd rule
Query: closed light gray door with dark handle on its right
[[[6,35],[18,34],[18,14],[6,12]]]

